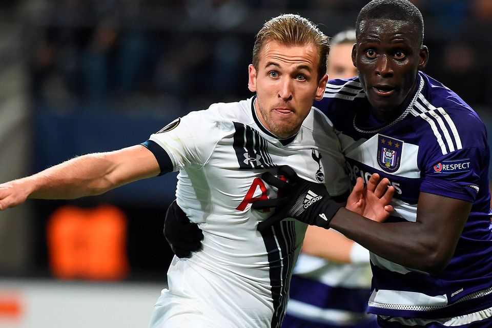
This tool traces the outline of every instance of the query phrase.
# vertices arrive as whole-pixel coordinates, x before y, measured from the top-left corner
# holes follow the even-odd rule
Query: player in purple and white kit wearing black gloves
[[[304,191],[319,186],[295,176],[293,182],[263,177],[284,197],[253,207],[275,207],[270,223],[296,217],[368,249],[368,312],[378,315],[379,326],[491,327],[487,133],[456,93],[421,71],[429,57],[423,32],[411,2],[371,1],[356,22],[352,59],[359,76],[329,81],[314,104],[339,132],[352,182],[373,173],[391,181],[393,216],[384,223],[320,220],[328,198],[312,204],[309,217],[297,216]]]

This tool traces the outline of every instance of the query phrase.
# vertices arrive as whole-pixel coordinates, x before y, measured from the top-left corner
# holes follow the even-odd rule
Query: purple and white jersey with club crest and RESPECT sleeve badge
[[[417,272],[371,254],[370,313],[448,318],[492,309],[489,149],[482,121],[454,92],[419,72],[419,88],[392,122],[372,116],[358,78],[332,80],[315,103],[340,133],[353,183],[372,173],[396,189],[394,217],[416,221],[420,192],[473,203],[448,267]],[[490,315],[490,313],[489,313]]]

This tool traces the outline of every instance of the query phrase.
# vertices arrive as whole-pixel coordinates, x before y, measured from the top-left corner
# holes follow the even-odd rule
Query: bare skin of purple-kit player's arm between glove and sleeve
[[[340,209],[330,227],[404,267],[442,272],[456,249],[471,202],[420,193],[416,222],[379,223]]]

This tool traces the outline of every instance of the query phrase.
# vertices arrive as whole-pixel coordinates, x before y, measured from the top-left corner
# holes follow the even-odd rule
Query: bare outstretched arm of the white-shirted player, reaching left
[[[136,180],[158,175],[154,155],[137,145],[70,159],[31,176],[0,185],[0,210],[27,198],[73,199],[102,194]]]

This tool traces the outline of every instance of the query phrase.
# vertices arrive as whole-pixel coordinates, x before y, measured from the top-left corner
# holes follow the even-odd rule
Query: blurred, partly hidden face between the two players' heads
[[[357,69],[352,63],[352,44],[340,43],[330,47],[328,59],[328,78],[350,78],[357,76]]]

